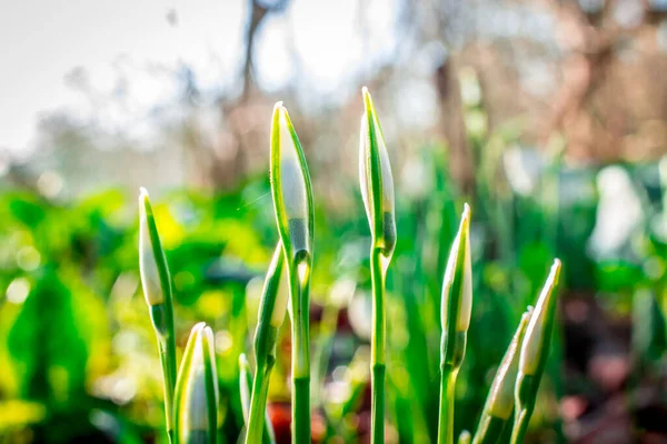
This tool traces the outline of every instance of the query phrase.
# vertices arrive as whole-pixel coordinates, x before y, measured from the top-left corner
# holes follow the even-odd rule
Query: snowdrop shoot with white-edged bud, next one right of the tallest
[[[470,208],[466,203],[458,233],[449,250],[442,283],[438,444],[454,443],[454,390],[466,355],[471,307]]]

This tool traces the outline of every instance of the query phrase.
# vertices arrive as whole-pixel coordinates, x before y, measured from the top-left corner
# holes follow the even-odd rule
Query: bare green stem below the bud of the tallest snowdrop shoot
[[[370,276],[372,285],[372,336],[371,336],[371,437],[372,444],[385,443],[385,272],[379,248],[370,251]]]

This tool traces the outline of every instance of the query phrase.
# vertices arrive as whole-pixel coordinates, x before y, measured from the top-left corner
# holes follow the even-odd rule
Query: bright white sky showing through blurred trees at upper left
[[[0,149],[29,149],[40,115],[60,109],[122,130],[173,99],[178,89],[170,75],[183,62],[205,88],[229,87],[237,78],[246,0],[1,2]],[[368,44],[377,58],[394,44],[395,8],[394,0],[370,3],[378,26]],[[170,11],[176,26],[167,19]],[[291,41],[307,88],[331,92],[354,67],[368,63],[359,29],[358,0],[292,0],[288,13],[268,20],[261,31],[256,59],[260,83],[273,89],[290,79]],[[64,81],[78,67],[102,98],[122,93],[123,107],[99,114],[99,103],[91,104]]]

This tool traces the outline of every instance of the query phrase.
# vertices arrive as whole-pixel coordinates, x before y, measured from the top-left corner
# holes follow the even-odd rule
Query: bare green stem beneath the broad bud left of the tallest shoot
[[[302,258],[308,266],[307,258]],[[310,317],[309,276],[301,280],[299,261],[289,268],[292,307],[292,443],[310,444]],[[303,266],[303,265],[301,265]]]

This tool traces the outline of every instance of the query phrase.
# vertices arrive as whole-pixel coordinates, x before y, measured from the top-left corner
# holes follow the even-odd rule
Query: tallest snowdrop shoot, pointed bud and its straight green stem
[[[386,309],[385,280],[396,246],[394,178],[380,121],[368,89],[362,89],[364,117],[359,143],[359,181],[370,225],[372,285],[371,443],[385,442]]]

